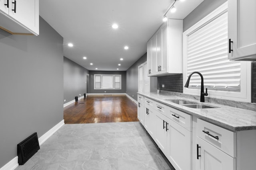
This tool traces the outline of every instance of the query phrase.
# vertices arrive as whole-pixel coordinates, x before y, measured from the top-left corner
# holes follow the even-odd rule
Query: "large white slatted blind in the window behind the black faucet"
[[[240,91],[240,61],[228,60],[228,13],[202,25],[188,35],[187,77],[194,71],[204,76],[204,87]],[[193,74],[190,88],[200,88],[201,78]]]

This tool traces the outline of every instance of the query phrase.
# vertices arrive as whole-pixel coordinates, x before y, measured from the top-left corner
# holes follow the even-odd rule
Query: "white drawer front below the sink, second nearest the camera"
[[[174,109],[172,107],[168,107],[167,117],[170,118],[172,121],[178,123],[182,127],[192,131],[192,116]]]

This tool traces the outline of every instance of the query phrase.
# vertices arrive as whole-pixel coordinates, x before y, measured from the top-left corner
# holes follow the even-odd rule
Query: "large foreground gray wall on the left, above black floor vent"
[[[17,144],[63,120],[63,38],[40,18],[40,35],[0,29],[0,168]]]

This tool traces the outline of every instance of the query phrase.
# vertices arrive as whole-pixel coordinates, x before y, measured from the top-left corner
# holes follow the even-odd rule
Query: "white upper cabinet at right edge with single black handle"
[[[228,59],[256,61],[256,1],[228,0]]]

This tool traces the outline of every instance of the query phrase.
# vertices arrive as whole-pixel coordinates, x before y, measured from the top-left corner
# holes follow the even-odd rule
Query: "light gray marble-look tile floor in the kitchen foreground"
[[[175,170],[140,122],[65,124],[15,170]]]

